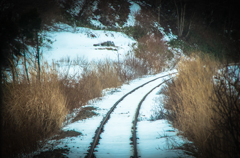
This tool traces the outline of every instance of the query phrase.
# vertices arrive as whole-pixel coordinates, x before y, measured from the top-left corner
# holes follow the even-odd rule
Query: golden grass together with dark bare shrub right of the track
[[[181,60],[163,90],[168,119],[194,143],[193,155],[198,149],[197,157],[240,156],[239,70],[194,55]]]

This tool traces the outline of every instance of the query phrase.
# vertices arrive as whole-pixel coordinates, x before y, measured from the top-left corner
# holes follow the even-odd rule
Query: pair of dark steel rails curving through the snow
[[[94,149],[95,147],[97,146],[98,142],[99,142],[99,139],[100,139],[100,134],[103,132],[103,128],[104,128],[104,125],[107,123],[107,121],[110,119],[110,115],[111,113],[114,111],[114,109],[117,107],[117,105],[124,100],[124,98],[126,98],[128,95],[130,95],[131,93],[133,93],[134,91],[136,91],[137,89],[153,82],[153,81],[156,81],[160,78],[164,78],[164,77],[167,77],[169,75],[173,75],[173,74],[176,74],[176,73],[171,73],[171,74],[168,74],[168,75],[164,75],[164,76],[161,76],[161,77],[157,77],[153,80],[150,80],[138,87],[136,87],[135,89],[133,89],[132,91],[128,92],[127,94],[125,94],[122,98],[120,98],[112,107],[111,109],[108,111],[108,113],[106,114],[106,116],[103,118],[103,120],[101,121],[101,124],[100,126],[97,128],[96,132],[95,132],[95,136],[93,138],[93,142],[91,143],[91,146],[90,146],[90,149],[88,150],[88,153],[87,153],[87,158],[93,158],[95,157],[93,152],[94,152]],[[170,79],[168,79],[170,80]],[[150,94],[154,89],[156,89],[157,87],[161,86],[163,83],[165,83],[166,81],[168,80],[165,80],[163,81],[162,83],[158,84],[157,86],[155,86],[154,88],[152,88],[143,98],[142,100],[139,102],[138,106],[137,106],[137,109],[136,109],[136,112],[135,112],[135,116],[134,116],[134,120],[133,120],[133,125],[132,125],[132,144],[133,144],[133,156],[134,158],[137,158],[138,157],[138,153],[137,153],[137,137],[136,137],[136,125],[137,125],[137,118],[138,118],[138,114],[139,114],[139,110],[140,110],[140,107],[141,107],[141,104],[142,102],[145,100],[145,98],[147,97],[148,94]]]

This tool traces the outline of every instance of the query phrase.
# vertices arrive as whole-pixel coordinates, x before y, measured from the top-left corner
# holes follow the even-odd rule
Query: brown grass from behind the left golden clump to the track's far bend
[[[133,54],[120,62],[110,59],[89,62],[84,58],[76,58],[62,59],[56,65],[60,69],[65,67],[61,69],[61,89],[70,111],[101,97],[103,89],[119,87],[129,80],[150,74],[151,70]],[[72,71],[70,75],[69,70],[73,67],[79,71]]]

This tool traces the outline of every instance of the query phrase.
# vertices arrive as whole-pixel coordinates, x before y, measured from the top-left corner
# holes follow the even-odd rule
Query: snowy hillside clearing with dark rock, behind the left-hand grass
[[[61,24],[59,27],[65,28],[64,31],[44,32],[43,34],[53,42],[49,47],[43,47],[43,57],[48,61],[60,60],[77,56],[85,57],[87,60],[99,60],[109,58],[118,59],[126,55],[131,49],[135,40],[124,33],[104,30],[92,30],[83,27],[74,28],[69,25]],[[114,46],[93,46],[106,41],[113,41]],[[47,43],[47,42],[46,42]],[[110,49],[109,49],[110,48]]]

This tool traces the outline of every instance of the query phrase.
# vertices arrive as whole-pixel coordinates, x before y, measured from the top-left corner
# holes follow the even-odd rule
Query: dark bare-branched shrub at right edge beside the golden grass
[[[214,93],[216,99],[212,110],[216,117],[212,118],[217,157],[240,157],[240,66],[226,65],[216,76]]]

